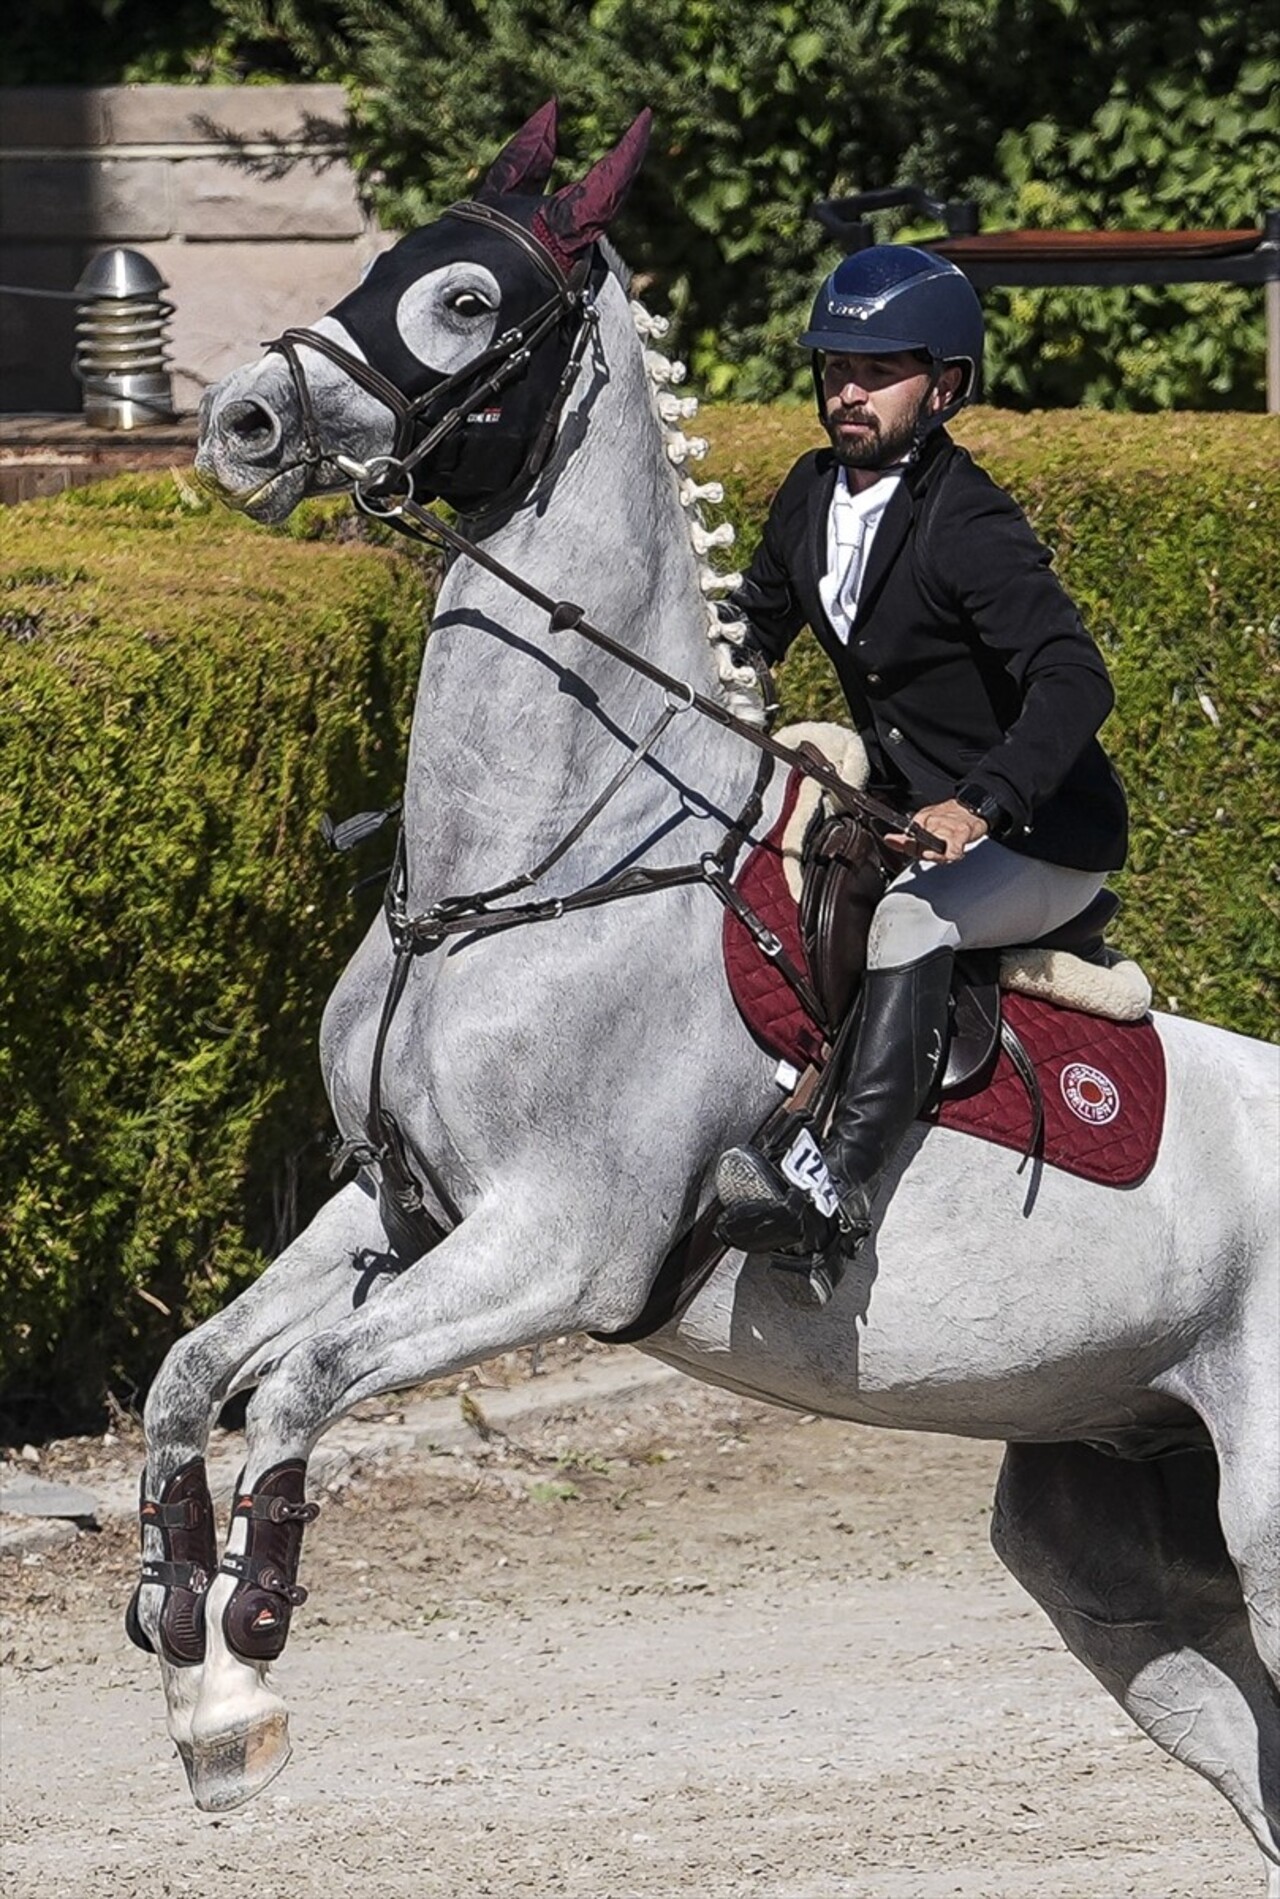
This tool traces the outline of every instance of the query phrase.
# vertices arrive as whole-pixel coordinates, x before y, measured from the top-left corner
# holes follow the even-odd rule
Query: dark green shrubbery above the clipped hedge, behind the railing
[[[551,93],[570,165],[649,104],[623,253],[701,385],[805,391],[836,253],[815,197],[917,182],[986,228],[1255,226],[1280,190],[1271,0],[218,0],[245,44],[344,80],[374,205],[408,230]],[[881,216],[877,232],[894,234]],[[898,235],[906,234],[900,216]],[[938,235],[936,226],[912,232]],[[989,292],[988,395],[1263,406],[1263,298],[1221,285]]]

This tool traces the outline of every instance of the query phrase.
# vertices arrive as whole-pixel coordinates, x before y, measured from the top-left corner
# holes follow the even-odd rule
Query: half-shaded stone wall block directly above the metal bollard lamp
[[[158,158],[4,158],[4,235],[87,237],[99,245],[167,237],[171,169]]]

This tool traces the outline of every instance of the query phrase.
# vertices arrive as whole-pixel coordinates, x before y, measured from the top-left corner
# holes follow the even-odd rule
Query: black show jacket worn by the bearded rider
[[[1111,680],[1018,503],[934,431],[879,518],[845,646],[819,596],[836,475],[830,448],[800,458],[725,617],[771,665],[813,627],[885,798],[917,811],[978,786],[1008,849],[1119,870],[1124,790],[1096,739]]]

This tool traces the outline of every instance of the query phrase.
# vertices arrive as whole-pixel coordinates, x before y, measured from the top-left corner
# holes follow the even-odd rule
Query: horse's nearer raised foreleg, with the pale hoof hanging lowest
[[[585,1293],[593,1261],[566,1238],[549,1253],[549,1225],[543,1219],[543,1238],[536,1238],[530,1225],[492,1208],[471,1213],[376,1305],[300,1339],[260,1379],[228,1557],[209,1591],[209,1648],[192,1724],[199,1806],[239,1806],[287,1758],[285,1709],[268,1664],[300,1599],[302,1477],[315,1439],[365,1398],[612,1322],[613,1308]]]

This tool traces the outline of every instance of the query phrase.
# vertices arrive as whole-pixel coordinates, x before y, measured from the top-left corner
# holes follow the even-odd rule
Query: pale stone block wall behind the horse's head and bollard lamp
[[[0,89],[0,283],[70,291],[129,245],[167,279],[179,408],[389,241],[346,161],[340,85]],[[0,294],[0,412],[78,412],[74,304]]]

